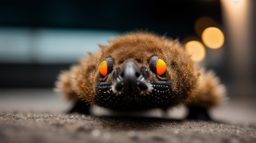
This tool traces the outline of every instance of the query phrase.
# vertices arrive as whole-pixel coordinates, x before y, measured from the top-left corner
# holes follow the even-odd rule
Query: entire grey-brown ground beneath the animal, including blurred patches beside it
[[[232,99],[211,111],[218,122],[182,120],[184,108],[147,117],[64,114],[51,90],[0,90],[0,142],[256,142],[255,100]],[[156,115],[155,115],[156,114]]]

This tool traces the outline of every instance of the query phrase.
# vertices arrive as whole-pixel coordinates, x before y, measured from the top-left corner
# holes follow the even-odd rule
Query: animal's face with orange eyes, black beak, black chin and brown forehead
[[[176,94],[163,52],[138,45],[106,49],[98,65],[97,104],[115,110],[173,105]]]

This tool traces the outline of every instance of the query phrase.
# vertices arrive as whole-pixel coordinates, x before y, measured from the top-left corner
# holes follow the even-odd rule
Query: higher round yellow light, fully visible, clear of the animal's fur
[[[218,49],[224,43],[224,34],[216,27],[209,27],[203,31],[202,40],[208,47]]]

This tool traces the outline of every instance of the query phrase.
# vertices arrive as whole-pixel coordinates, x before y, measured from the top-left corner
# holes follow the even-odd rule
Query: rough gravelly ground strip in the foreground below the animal
[[[0,142],[256,142],[255,125],[0,112]]]

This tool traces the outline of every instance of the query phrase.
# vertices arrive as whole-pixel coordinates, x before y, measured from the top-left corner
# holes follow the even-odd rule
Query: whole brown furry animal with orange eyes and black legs
[[[193,62],[177,40],[148,32],[126,33],[60,73],[56,88],[75,102],[117,111],[188,106],[187,118],[209,120],[208,109],[225,95],[213,72]]]

